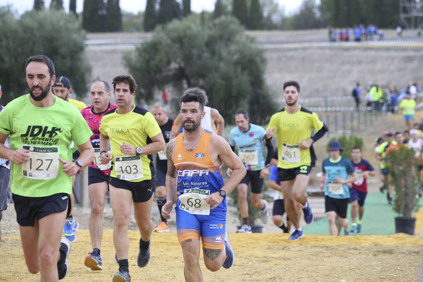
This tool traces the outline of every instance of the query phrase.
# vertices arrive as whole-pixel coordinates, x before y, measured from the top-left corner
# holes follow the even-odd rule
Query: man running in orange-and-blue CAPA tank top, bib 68
[[[232,266],[233,249],[225,233],[225,197],[239,184],[246,170],[225,139],[201,127],[204,117],[201,96],[185,94],[181,99],[180,116],[184,132],[166,146],[168,202],[162,208],[162,216],[170,218],[178,188],[176,229],[184,256],[185,281],[198,282],[203,281],[198,264],[200,238],[204,264],[209,270]],[[226,184],[222,178],[222,163],[233,170]]]

